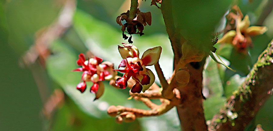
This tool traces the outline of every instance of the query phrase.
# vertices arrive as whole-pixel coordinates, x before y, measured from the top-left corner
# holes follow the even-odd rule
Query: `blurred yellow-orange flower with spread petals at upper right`
[[[243,15],[238,6],[234,6],[226,17],[227,22],[230,22],[226,27],[227,32],[217,43],[231,43],[240,53],[246,54],[248,47],[252,47],[251,36],[261,35],[267,31],[265,26],[250,26],[248,15],[242,20]]]

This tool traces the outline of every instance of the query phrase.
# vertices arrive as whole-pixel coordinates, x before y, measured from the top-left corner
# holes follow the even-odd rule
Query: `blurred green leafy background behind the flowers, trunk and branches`
[[[93,53],[113,62],[115,68],[119,65],[121,58],[117,45],[127,41],[122,39],[121,27],[116,24],[116,17],[129,9],[129,0],[77,0],[71,26],[50,43],[47,59],[29,65],[23,63],[22,56],[40,36],[39,32],[58,21],[65,2],[0,1],[1,130],[180,130],[176,109],[159,117],[140,118],[133,123],[115,123],[114,118],[106,113],[110,105],[147,109],[141,102],[127,100],[128,89],[115,89],[105,82],[104,95],[94,102],[94,94],[89,91],[82,94],[76,90],[81,75],[71,70],[77,68],[76,59],[79,53]],[[257,25],[270,0],[237,2],[242,13],[250,16],[251,25]],[[204,3],[202,0],[185,0],[174,1],[173,4],[174,19],[176,26],[182,29],[181,33],[187,39],[201,41],[223,28],[224,13],[230,8],[231,1],[214,0]],[[133,44],[139,48],[140,55],[148,48],[162,46],[160,66],[166,78],[169,78],[172,73],[173,53],[161,11],[156,6],[150,6],[150,1],[139,1],[139,8],[142,12],[151,12],[152,25],[145,26],[145,35],[133,35]],[[231,45],[221,48],[216,45],[222,60],[236,72],[217,64],[211,58],[207,59],[203,72],[203,92],[207,97],[204,111],[207,120],[219,111],[225,99],[241,85],[259,54],[273,38],[272,21],[271,12],[261,23],[268,27],[268,31],[252,38],[254,47],[247,55],[239,54]],[[155,72],[153,67],[149,69]],[[156,82],[159,83],[158,80]],[[91,87],[90,83],[88,86],[87,89]],[[55,89],[64,91],[64,102],[50,117],[45,117],[42,113],[44,104]],[[272,108],[271,97],[246,130],[253,130],[257,124],[261,124],[265,130],[272,130]]]

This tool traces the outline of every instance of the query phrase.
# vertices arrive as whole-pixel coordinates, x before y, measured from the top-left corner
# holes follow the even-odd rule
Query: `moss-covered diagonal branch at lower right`
[[[273,40],[261,53],[245,82],[211,120],[209,130],[244,130],[272,94],[272,72]]]

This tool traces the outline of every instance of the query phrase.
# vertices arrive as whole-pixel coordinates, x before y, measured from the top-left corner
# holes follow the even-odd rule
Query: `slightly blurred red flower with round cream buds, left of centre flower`
[[[112,63],[102,61],[103,59],[96,56],[86,60],[85,56],[81,53],[79,54],[79,59],[77,60],[78,66],[81,67],[72,70],[83,72],[81,82],[77,85],[77,89],[80,92],[83,93],[86,90],[86,82],[93,82],[90,92],[96,94],[96,98],[94,100],[102,96],[104,92],[104,85],[102,81],[113,79],[117,74],[116,71],[113,71]]]

